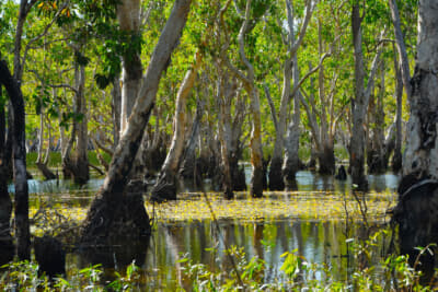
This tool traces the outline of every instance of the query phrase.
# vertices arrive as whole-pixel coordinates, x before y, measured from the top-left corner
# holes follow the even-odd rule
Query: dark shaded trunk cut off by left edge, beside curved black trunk
[[[8,168],[4,163],[5,155],[5,113],[2,97],[2,85],[0,83],[0,265],[12,260],[14,245],[11,236],[11,212],[12,201],[8,192]]]

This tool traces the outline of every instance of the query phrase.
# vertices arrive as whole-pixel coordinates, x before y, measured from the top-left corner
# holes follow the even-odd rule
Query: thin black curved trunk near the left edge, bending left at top
[[[15,186],[16,255],[20,259],[30,259],[31,233],[28,222],[24,100],[19,82],[12,77],[7,62],[3,60],[0,60],[0,83],[4,85],[13,108],[12,151]]]

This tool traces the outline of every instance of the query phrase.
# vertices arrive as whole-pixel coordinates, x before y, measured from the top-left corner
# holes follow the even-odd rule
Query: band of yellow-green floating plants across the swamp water
[[[65,232],[80,225],[85,219],[87,205],[57,200],[39,195],[38,206],[31,207],[32,232]],[[59,198],[59,197],[58,197]],[[178,200],[161,205],[145,203],[154,222],[186,222],[212,219],[235,219],[243,222],[260,220],[300,219],[312,221],[366,220],[388,222],[387,210],[396,202],[394,192],[339,194],[330,191],[265,192],[262,199],[253,199],[246,192],[238,192],[237,199],[226,200],[220,194],[180,194]],[[206,200],[208,199],[208,202]],[[51,201],[51,202],[50,202]]]

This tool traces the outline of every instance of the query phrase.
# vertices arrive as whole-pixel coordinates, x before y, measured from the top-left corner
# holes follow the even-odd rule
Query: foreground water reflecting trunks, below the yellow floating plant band
[[[220,234],[211,221],[160,223],[143,266],[148,288],[160,289],[164,283],[170,290],[177,284],[189,288],[181,269],[181,259],[185,256],[210,270],[230,271],[232,265],[224,250],[233,245],[243,247],[246,260],[256,256],[266,261],[265,282],[278,281],[284,260],[280,256],[291,250],[309,261],[326,264],[338,280],[350,277],[353,256],[348,256],[346,238],[354,234],[345,234],[344,223],[297,220],[253,223],[220,220],[218,223]]]

